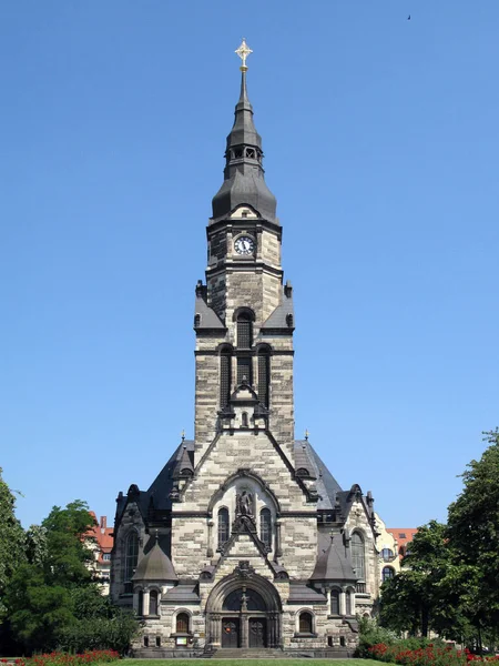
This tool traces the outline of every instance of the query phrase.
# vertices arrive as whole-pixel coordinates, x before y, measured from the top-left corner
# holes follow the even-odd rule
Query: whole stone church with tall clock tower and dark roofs
[[[111,596],[138,657],[352,656],[378,596],[370,493],[296,441],[293,287],[246,87],[195,286],[195,431],[116,500]],[[200,242],[202,231],[200,228]]]

